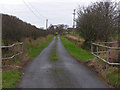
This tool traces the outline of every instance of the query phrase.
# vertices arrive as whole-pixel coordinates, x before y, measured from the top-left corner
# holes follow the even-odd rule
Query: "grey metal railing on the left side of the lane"
[[[21,51],[17,53],[17,50],[16,50],[16,45],[21,45]],[[17,43],[14,43],[10,46],[0,46],[0,48],[11,48],[11,47],[14,47],[14,55],[11,56],[11,57],[6,57],[6,58],[0,58],[2,60],[6,60],[6,59],[12,59],[12,58],[15,58],[15,61],[16,61],[16,56],[20,55],[23,53],[23,42],[17,42]]]

